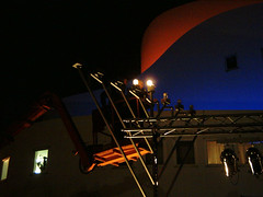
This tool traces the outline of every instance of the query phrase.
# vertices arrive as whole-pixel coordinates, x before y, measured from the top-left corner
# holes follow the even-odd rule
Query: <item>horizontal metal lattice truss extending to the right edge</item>
[[[130,132],[126,138],[152,138],[153,130],[161,138],[181,136],[226,135],[262,132],[263,112],[236,113],[214,115],[190,115],[187,112],[170,117],[161,118],[129,118],[124,119],[127,128],[124,132]],[[137,123],[144,127],[137,128]]]

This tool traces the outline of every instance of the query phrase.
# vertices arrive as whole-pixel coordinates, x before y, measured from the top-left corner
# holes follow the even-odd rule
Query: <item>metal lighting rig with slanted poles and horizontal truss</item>
[[[89,93],[91,94],[103,120],[107,129],[111,132],[116,146],[117,146],[117,153],[122,154],[123,161],[126,162],[130,174],[133,175],[140,193],[142,196],[147,196],[145,190],[141,187],[137,176],[135,175],[134,170],[132,169],[126,152],[123,150],[122,146],[119,144],[118,139],[115,137],[115,134],[112,130],[112,126],[108,124],[107,119],[105,118],[105,114],[103,114],[94,94],[92,93],[88,80],[85,79],[82,72],[82,65],[76,63],[73,65],[76,69],[78,69],[81,79],[83,80]],[[194,143],[198,136],[205,135],[237,135],[237,134],[253,134],[253,132],[263,132],[263,111],[259,111],[256,113],[232,113],[232,114],[202,114],[199,112],[195,112],[193,106],[190,107],[188,111],[184,111],[179,106],[171,106],[170,100],[168,99],[167,94],[163,94],[163,100],[161,102],[153,99],[153,91],[145,91],[142,90],[144,96],[141,96],[141,92],[139,92],[136,88],[128,90],[128,93],[137,99],[140,107],[144,112],[144,117],[136,117],[134,109],[130,107],[129,102],[124,94],[122,89],[122,83],[119,82],[110,82],[110,85],[116,89],[117,92],[122,95],[125,104],[128,107],[129,113],[132,114],[132,118],[124,118],[119,114],[118,109],[115,106],[114,101],[112,100],[111,94],[108,93],[102,73],[90,73],[89,77],[94,79],[99,82],[103,90],[108,97],[108,101],[114,108],[115,114],[118,117],[118,120],[122,123],[122,131],[125,134],[124,138],[129,139],[130,146],[134,148],[134,154],[137,154],[136,158],[139,158],[152,186],[153,186],[153,196],[158,196],[158,181],[163,174],[167,165],[176,150],[176,147],[180,140],[183,137],[193,137],[192,142]],[[145,94],[146,93],[146,94]],[[149,107],[146,107],[145,103]],[[162,107],[160,107],[160,103]],[[155,113],[153,108],[157,106],[157,113]],[[169,111],[164,113],[164,111]],[[163,115],[164,114],[164,115]],[[165,116],[170,114],[170,116]],[[135,138],[145,140],[149,153],[152,154],[152,173],[149,172],[147,169],[144,159],[140,155],[140,150],[138,150],[136,143],[133,141]],[[162,169],[158,170],[158,143],[163,138],[176,138],[176,141],[168,155]],[[150,140],[150,141],[149,141]],[[129,146],[129,148],[132,148]],[[168,189],[167,196],[169,196],[176,178],[184,166],[184,161],[190,153],[191,148],[183,158],[183,161],[175,173],[175,176]],[[135,157],[133,154],[133,157]]]

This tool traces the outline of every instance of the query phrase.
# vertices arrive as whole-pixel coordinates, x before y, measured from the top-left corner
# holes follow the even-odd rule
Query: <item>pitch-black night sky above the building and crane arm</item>
[[[84,92],[75,62],[112,79],[140,72],[140,43],[160,13],[190,0],[8,1],[1,4],[1,123],[45,91]]]

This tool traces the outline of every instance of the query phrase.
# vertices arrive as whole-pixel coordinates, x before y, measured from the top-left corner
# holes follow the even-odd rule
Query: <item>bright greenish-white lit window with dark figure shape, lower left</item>
[[[34,174],[41,174],[45,172],[48,159],[48,150],[38,150],[35,151],[35,160],[34,160]]]

